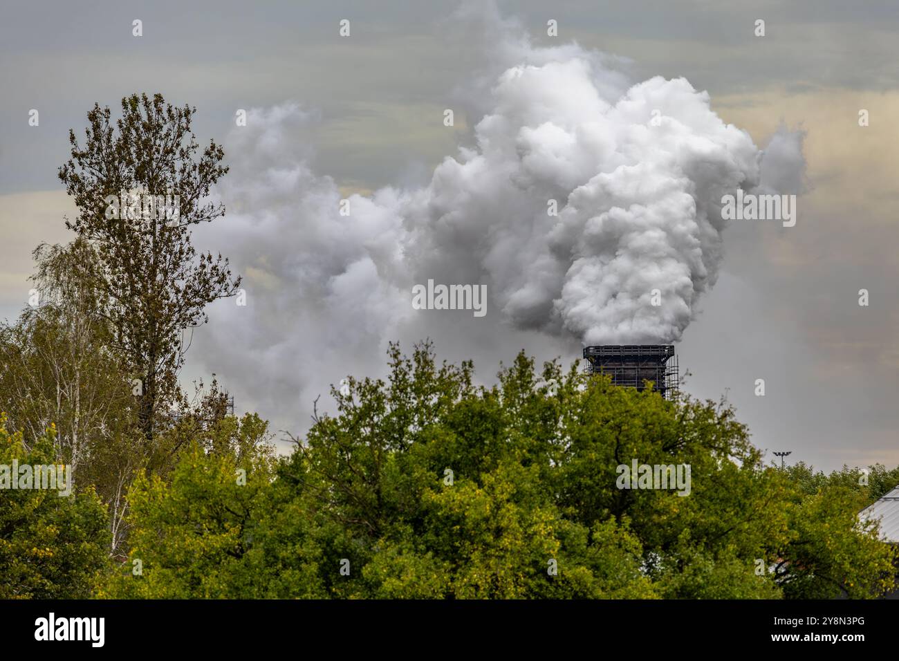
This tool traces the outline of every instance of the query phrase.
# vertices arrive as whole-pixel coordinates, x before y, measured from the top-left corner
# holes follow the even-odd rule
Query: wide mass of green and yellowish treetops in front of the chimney
[[[894,585],[893,550],[857,523],[858,491],[763,465],[727,406],[555,362],[538,373],[523,353],[490,388],[429,345],[389,357],[387,380],[332,389],[336,415],[316,413],[289,457],[272,458],[258,418],[185,432],[205,440],[175,442],[172,474],[129,494],[143,575],[126,563],[104,594],[802,598]],[[689,496],[618,488],[632,460],[689,464]]]

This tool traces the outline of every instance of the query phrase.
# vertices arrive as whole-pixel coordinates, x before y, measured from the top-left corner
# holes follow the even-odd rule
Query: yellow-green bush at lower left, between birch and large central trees
[[[271,448],[258,416],[227,417],[182,448],[170,479],[142,472],[129,491],[131,550],[102,595],[238,597],[254,517],[267,504]],[[138,561],[138,562],[136,562]],[[135,574],[136,570],[138,575]]]

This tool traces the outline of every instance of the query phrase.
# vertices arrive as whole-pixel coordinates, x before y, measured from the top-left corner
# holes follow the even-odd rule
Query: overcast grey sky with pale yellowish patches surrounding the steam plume
[[[695,396],[726,394],[763,448],[792,450],[791,460],[824,469],[899,464],[899,4],[499,7],[535,44],[576,40],[614,56],[636,81],[686,77],[760,147],[781,123],[806,131],[807,192],[797,226],[734,223],[725,230],[717,286],[700,300],[677,347],[681,370],[692,372],[687,389]],[[67,240],[62,215],[72,209],[56,172],[67,156],[68,129],[80,132],[94,102],[115,108],[125,94],[161,92],[197,106],[201,141],[225,140],[237,108],[297,102],[311,119],[287,136],[289,144],[308,149],[316,174],[333,177],[344,194],[427,183],[444,156],[470,146],[480,116],[465,90],[491,57],[491,35],[453,20],[455,9],[387,1],[4,3],[0,317],[14,317],[27,299],[31,248]],[[352,22],[348,40],[337,36],[343,18]],[[131,36],[134,19],[143,22],[141,38]],[[548,19],[558,22],[556,41],[546,36]],[[753,36],[756,19],[766,22],[763,38]],[[451,130],[442,125],[448,107],[458,109]],[[28,126],[31,108],[40,111],[39,127]],[[870,112],[867,128],[858,125],[862,108]],[[242,163],[244,156],[227,152],[234,173],[254,166]],[[216,248],[227,237],[222,228],[198,243]],[[247,280],[262,287],[264,274],[251,272]],[[870,291],[867,308],[858,305],[862,288]],[[541,360],[577,353],[537,333],[497,335],[489,326],[454,335],[438,321],[416,328],[435,337],[450,360],[474,358],[484,379],[521,347]],[[303,337],[301,323],[282,324]],[[378,346],[367,362],[349,351],[343,360],[334,354],[310,364],[315,374],[292,393],[289,379],[247,381],[240,361],[227,354],[246,351],[246,335],[227,345],[204,334],[211,335],[198,334],[187,373],[216,371],[239,409],[258,408],[276,426],[293,429],[307,419],[309,394],[383,360]],[[765,397],[753,393],[760,378]],[[295,413],[278,410],[285,401],[296,402]]]

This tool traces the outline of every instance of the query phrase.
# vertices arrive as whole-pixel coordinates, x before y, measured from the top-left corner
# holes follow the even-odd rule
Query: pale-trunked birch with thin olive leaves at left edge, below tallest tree
[[[120,356],[97,314],[102,308],[93,285],[98,266],[84,240],[69,246],[42,244],[31,280],[40,304],[25,308],[14,325],[0,327],[0,407],[26,447],[50,424],[57,429],[54,460],[90,471],[102,445],[127,433],[136,408]]]

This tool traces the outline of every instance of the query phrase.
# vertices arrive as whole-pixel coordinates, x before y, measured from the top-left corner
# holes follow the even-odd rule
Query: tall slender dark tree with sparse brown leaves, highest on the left
[[[206,323],[205,306],[234,295],[240,278],[227,259],[191,245],[191,226],[224,214],[209,191],[227,173],[214,141],[197,157],[196,109],[165,103],[161,94],[132,94],[121,111],[113,126],[110,108],[94,104],[84,147],[69,131],[71,158],[59,178],[79,210],[67,228],[96,251],[98,312],[138,380],[149,441],[160,411],[177,396],[185,330]]]

